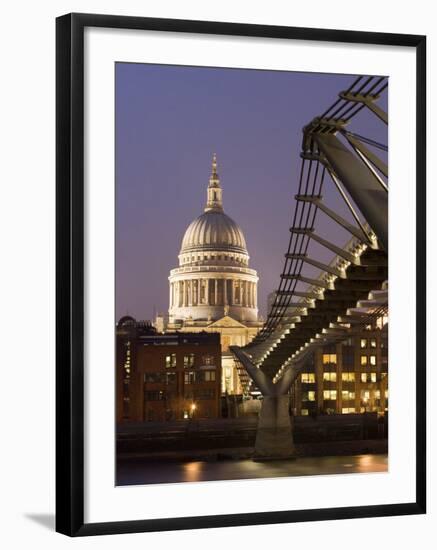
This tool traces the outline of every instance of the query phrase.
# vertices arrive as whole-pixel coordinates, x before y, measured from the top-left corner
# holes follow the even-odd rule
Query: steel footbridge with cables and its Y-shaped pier
[[[255,339],[231,348],[243,388],[263,396],[259,458],[294,454],[290,391],[310,355],[388,316],[388,148],[359,130],[364,110],[388,124],[378,101],[387,86],[385,77],[360,76],[303,128],[277,291]],[[337,228],[329,239],[327,221]]]

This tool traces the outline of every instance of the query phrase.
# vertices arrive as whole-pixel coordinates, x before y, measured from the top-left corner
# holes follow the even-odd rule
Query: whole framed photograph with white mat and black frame
[[[425,37],[56,40],[57,530],[425,513]]]

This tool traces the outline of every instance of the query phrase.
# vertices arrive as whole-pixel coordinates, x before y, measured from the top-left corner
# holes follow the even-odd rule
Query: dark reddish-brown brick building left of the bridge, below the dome
[[[160,334],[131,317],[116,334],[117,422],[220,416],[218,334]]]

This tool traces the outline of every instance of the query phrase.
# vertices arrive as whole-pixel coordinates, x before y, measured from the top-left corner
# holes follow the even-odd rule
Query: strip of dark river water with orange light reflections
[[[370,454],[267,462],[227,460],[153,463],[132,459],[122,461],[118,465],[117,485],[370,473],[387,470],[387,455]]]

